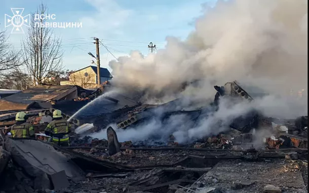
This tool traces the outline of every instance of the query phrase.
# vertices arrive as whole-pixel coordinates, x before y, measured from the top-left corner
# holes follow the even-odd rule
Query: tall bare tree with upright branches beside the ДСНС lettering
[[[47,7],[41,4],[36,12],[31,14],[28,34],[22,41],[22,56],[34,84],[41,84],[48,80],[49,72],[62,70],[63,50],[61,38],[54,35],[52,28],[41,27],[41,24],[45,25],[46,19],[35,20],[35,14],[48,15]]]

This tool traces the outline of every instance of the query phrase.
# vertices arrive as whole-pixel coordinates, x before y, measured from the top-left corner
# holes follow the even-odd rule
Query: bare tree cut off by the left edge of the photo
[[[0,77],[8,74],[8,71],[20,66],[19,53],[15,52],[8,42],[5,31],[0,31]]]

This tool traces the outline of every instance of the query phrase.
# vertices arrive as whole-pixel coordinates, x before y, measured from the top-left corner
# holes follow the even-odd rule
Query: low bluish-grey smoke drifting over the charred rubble
[[[278,103],[269,104],[269,101],[278,101]],[[272,96],[263,97],[253,102],[249,101],[235,101],[231,98],[222,98],[219,103],[219,108],[214,111],[210,106],[202,110],[198,115],[192,118],[189,114],[172,114],[165,117],[167,112],[173,112],[175,108],[170,106],[156,108],[152,112],[151,118],[139,123],[136,126],[131,126],[127,130],[117,128],[116,125],[110,125],[115,128],[115,131],[120,142],[124,141],[144,141],[151,139],[152,141],[168,142],[169,136],[173,135],[176,142],[180,144],[187,144],[203,137],[217,135],[220,132],[229,130],[230,124],[239,116],[244,116],[253,110],[257,110],[265,116],[273,115],[273,109],[283,108],[281,99],[274,100]],[[184,103],[182,103],[184,105]],[[185,107],[185,106],[184,106]],[[179,109],[178,109],[179,110]],[[296,112],[295,112],[296,113]],[[296,115],[296,114],[295,114]],[[300,114],[297,114],[297,116]],[[263,131],[264,128],[257,128]],[[266,135],[268,132],[264,131],[260,134]],[[257,136],[258,136],[257,135]],[[99,139],[106,139],[106,129],[99,133],[93,134],[92,137]],[[261,139],[261,137],[258,137]],[[151,142],[150,140],[148,142]]]

